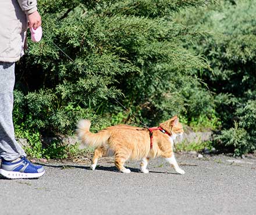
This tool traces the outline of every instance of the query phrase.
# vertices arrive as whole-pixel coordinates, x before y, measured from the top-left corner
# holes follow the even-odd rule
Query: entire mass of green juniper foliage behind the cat
[[[237,154],[253,150],[255,6],[212,2],[38,1],[44,37],[16,67],[17,137],[33,156],[62,155],[41,137],[72,135],[81,118],[98,130],[179,114],[195,129],[222,125]]]

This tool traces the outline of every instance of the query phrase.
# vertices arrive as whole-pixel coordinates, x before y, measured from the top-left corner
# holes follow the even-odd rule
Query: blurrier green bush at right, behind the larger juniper
[[[198,76],[214,92],[215,110],[222,121],[218,144],[232,146],[236,155],[255,150],[255,1],[219,1],[196,13],[184,12],[177,21],[208,32],[192,48],[211,66]]]

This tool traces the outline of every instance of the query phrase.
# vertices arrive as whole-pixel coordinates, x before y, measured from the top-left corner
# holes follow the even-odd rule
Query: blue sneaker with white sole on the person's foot
[[[12,163],[2,159],[0,174],[6,178],[38,178],[45,173],[44,167],[35,166],[26,157]]]

